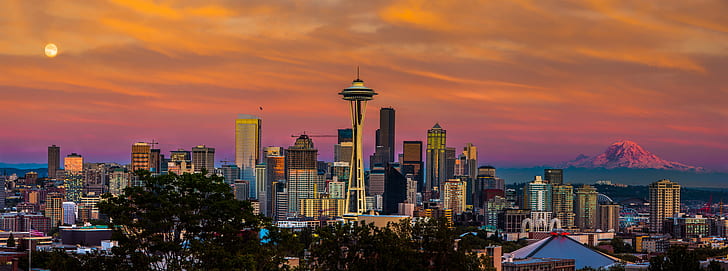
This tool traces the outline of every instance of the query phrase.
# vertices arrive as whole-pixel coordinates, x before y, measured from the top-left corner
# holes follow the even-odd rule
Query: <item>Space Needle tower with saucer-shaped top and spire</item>
[[[362,124],[364,113],[366,113],[367,101],[371,100],[377,93],[373,89],[365,87],[364,81],[359,79],[359,68],[356,69],[356,80],[351,87],[345,88],[339,95],[349,101],[351,108],[352,136],[354,146],[351,151],[351,162],[349,163],[349,189],[346,193],[346,211],[348,216],[356,216],[366,211],[366,188],[364,187],[364,162],[362,159]]]

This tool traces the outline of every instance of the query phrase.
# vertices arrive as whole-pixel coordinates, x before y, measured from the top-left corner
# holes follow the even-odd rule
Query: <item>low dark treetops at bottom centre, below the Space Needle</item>
[[[445,220],[409,220],[378,228],[338,224],[316,231],[311,270],[482,270],[491,264],[465,249]]]

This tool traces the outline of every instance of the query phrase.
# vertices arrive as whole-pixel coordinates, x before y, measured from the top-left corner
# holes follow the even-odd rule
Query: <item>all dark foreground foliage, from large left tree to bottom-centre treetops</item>
[[[471,251],[525,245],[498,236],[462,238],[445,219],[402,221],[379,228],[342,223],[316,230],[278,229],[238,201],[222,178],[202,174],[151,176],[119,196],[104,195],[101,213],[114,228],[113,255],[34,252],[33,267],[53,270],[493,270]],[[265,240],[258,235],[268,231]],[[459,240],[458,240],[459,239]],[[457,240],[457,241],[456,241]],[[264,242],[262,242],[264,241]],[[510,248],[509,248],[510,246]],[[500,259],[496,259],[500,260]],[[27,268],[27,258],[21,268]]]

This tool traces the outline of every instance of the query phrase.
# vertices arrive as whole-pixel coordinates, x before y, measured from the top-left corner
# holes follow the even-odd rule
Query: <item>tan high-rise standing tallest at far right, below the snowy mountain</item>
[[[650,184],[650,232],[662,233],[664,220],[680,213],[680,185],[664,179]]]

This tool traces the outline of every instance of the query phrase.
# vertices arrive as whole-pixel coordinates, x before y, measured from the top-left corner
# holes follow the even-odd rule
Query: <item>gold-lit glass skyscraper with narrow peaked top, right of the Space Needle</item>
[[[427,162],[425,163],[425,182],[427,190],[440,190],[441,183],[447,180],[447,166],[445,165],[447,131],[436,123],[432,129],[427,130]]]

